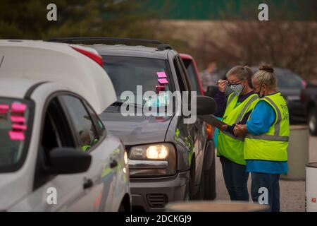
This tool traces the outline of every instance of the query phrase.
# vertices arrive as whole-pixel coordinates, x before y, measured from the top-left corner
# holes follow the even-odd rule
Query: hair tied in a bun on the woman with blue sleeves
[[[276,88],[277,85],[274,69],[268,65],[260,66],[259,71],[256,71],[253,79],[258,81],[259,84],[268,85],[269,88]]]

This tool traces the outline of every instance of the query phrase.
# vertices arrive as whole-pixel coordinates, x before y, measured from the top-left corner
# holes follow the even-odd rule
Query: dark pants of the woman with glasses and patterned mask
[[[245,170],[245,165],[240,165],[220,156],[223,165],[223,179],[232,201],[249,201],[247,182],[249,173]]]

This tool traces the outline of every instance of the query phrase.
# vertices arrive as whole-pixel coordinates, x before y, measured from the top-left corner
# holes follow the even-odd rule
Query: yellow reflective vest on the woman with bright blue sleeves
[[[285,162],[290,137],[290,119],[286,102],[280,93],[265,96],[259,101],[271,105],[276,117],[267,133],[260,136],[247,134],[244,140],[245,160]]]

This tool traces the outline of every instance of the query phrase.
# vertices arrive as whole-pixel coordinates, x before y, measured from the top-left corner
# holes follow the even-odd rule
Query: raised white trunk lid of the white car
[[[0,78],[53,81],[84,97],[98,114],[116,101],[116,92],[104,69],[72,46],[34,40],[0,40]]]

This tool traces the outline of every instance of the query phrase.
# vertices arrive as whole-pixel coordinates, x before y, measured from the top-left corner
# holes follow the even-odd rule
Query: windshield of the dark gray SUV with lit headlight
[[[111,78],[118,102],[132,102],[149,107],[168,105],[170,95],[166,91],[170,90],[170,78],[164,60],[104,56],[104,69]],[[147,91],[161,92],[161,95],[157,99],[147,98],[144,96]],[[139,99],[142,103],[137,102],[138,98],[142,98]]]

